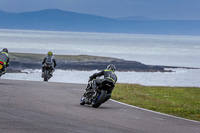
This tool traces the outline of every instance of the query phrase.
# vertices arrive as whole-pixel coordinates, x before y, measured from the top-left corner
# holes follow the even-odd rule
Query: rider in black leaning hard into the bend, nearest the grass
[[[115,87],[115,83],[117,82],[117,75],[115,74],[115,70],[116,70],[116,67],[113,64],[110,64],[107,66],[107,69],[105,69],[99,73],[94,73],[92,76],[89,77],[90,79],[88,81],[89,83],[87,85],[86,90],[88,90],[88,89],[97,90],[98,86],[100,86],[106,82],[111,82],[113,87],[110,90],[107,90],[108,96],[106,97],[105,101],[109,100],[111,98],[112,91]],[[104,76],[104,78],[103,79],[97,78],[99,76]]]

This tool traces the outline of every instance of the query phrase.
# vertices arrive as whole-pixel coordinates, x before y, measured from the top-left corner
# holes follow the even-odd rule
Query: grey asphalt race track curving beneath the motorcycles
[[[200,133],[200,122],[113,101],[81,106],[85,86],[0,79],[0,133]]]

